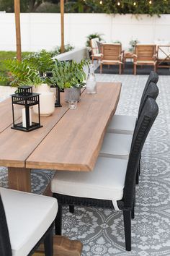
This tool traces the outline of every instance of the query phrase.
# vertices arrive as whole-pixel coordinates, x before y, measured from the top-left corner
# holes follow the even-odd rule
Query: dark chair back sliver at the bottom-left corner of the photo
[[[12,256],[12,248],[9,240],[9,231],[6,223],[4,205],[0,195],[0,255]]]

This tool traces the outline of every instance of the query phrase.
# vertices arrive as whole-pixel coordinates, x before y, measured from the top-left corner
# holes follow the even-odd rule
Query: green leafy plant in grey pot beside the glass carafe
[[[53,77],[50,80],[58,85],[62,90],[65,89],[66,101],[79,101],[81,88],[85,85],[86,73],[84,66],[89,65],[89,60],[82,59],[81,62],[76,61],[58,61],[52,69]]]

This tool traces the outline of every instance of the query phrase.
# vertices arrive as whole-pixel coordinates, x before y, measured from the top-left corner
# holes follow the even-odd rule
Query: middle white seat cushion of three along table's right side
[[[99,156],[128,159],[133,135],[106,133]]]

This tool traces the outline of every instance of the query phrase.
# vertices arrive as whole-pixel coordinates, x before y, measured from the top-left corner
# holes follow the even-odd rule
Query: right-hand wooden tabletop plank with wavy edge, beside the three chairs
[[[81,95],[78,107],[67,111],[27,159],[26,167],[91,171],[120,90],[119,82],[98,82],[97,94]]]

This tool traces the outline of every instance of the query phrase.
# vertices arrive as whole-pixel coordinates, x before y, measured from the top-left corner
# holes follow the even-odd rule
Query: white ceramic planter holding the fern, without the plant
[[[40,93],[40,116],[50,116],[55,110],[55,95],[50,91],[50,86],[42,84],[37,86],[36,93]],[[37,106],[33,106],[37,114]]]

